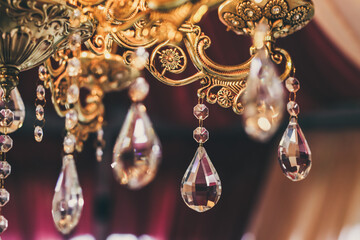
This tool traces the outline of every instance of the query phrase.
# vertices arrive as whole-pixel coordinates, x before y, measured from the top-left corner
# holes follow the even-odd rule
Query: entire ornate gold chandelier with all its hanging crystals
[[[253,38],[246,62],[226,66],[207,56],[211,39],[197,24],[215,8],[228,30]],[[181,181],[182,198],[191,209],[211,209],[222,189],[204,147],[209,138],[206,103],[242,115],[246,133],[262,142],[278,129],[286,108],[290,121],[278,148],[280,167],[292,181],[308,175],[311,152],[297,122],[300,83],[290,55],[275,42],[309,23],[311,0],[1,0],[0,11],[0,207],[10,199],[4,186],[11,173],[9,134],[25,118],[18,74],[37,66],[35,140],[41,142],[44,135],[46,89],[65,118],[63,165],[52,203],[55,226],[63,234],[81,216],[84,198],[74,153],[82,151],[90,133],[97,133],[96,158],[102,159],[102,100],[108,92],[128,89],[132,101],[113,150],[115,178],[140,189],[156,175],[162,150],[142,103],[149,92],[141,77],[145,69],[170,86],[200,83],[193,109],[199,147]],[[179,79],[191,65],[196,73]],[[1,215],[0,233],[7,227]]]

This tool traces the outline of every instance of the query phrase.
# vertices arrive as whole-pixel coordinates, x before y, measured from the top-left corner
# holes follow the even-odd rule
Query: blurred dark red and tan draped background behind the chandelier
[[[290,182],[278,166],[277,146],[286,117],[275,137],[260,144],[246,136],[240,116],[208,104],[210,117],[204,125],[210,139],[205,148],[223,191],[212,210],[189,209],[181,198],[180,182],[197,148],[192,131],[198,122],[192,109],[200,85],[168,87],[145,73],[151,86],[145,105],[163,145],[157,177],[139,191],[114,180],[112,146],[130,101],[126,92],[109,94],[104,159],[96,161],[91,136],[77,156],[83,214],[76,230],[62,237],[53,225],[51,204],[61,170],[64,119],[56,115],[48,96],[44,140],[35,142],[37,69],[33,69],[20,76],[26,119],[12,134],[14,147],[8,154],[12,174],[5,185],[11,201],[3,209],[9,221],[3,238],[360,239],[360,1],[314,2],[315,20],[277,42],[291,54],[301,82],[299,124],[313,154],[307,179]],[[200,25],[212,39],[208,50],[212,59],[237,64],[249,57],[251,40],[226,32],[216,11]]]

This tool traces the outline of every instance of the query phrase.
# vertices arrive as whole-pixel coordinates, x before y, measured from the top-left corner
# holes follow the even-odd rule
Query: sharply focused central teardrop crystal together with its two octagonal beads
[[[209,139],[209,132],[203,127],[203,121],[209,116],[209,109],[199,101],[193,113],[199,120],[199,127],[193,132],[193,137],[199,143],[199,147],[184,174],[180,191],[188,207],[198,212],[205,212],[219,201],[221,181],[203,147]]]

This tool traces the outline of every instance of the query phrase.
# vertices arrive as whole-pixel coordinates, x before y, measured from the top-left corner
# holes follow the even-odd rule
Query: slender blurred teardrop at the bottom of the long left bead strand
[[[62,234],[69,234],[78,224],[84,199],[76,172],[74,157],[63,158],[62,171],[55,187],[52,202],[52,216],[56,228]]]

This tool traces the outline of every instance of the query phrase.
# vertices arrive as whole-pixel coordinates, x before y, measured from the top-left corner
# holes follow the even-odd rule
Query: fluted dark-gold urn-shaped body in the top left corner
[[[73,32],[79,32],[83,39],[93,34],[91,19],[78,28],[70,26],[69,16],[74,9],[60,0],[0,1],[0,84],[5,96],[18,84],[20,71],[39,65],[56,49],[65,48]]]

